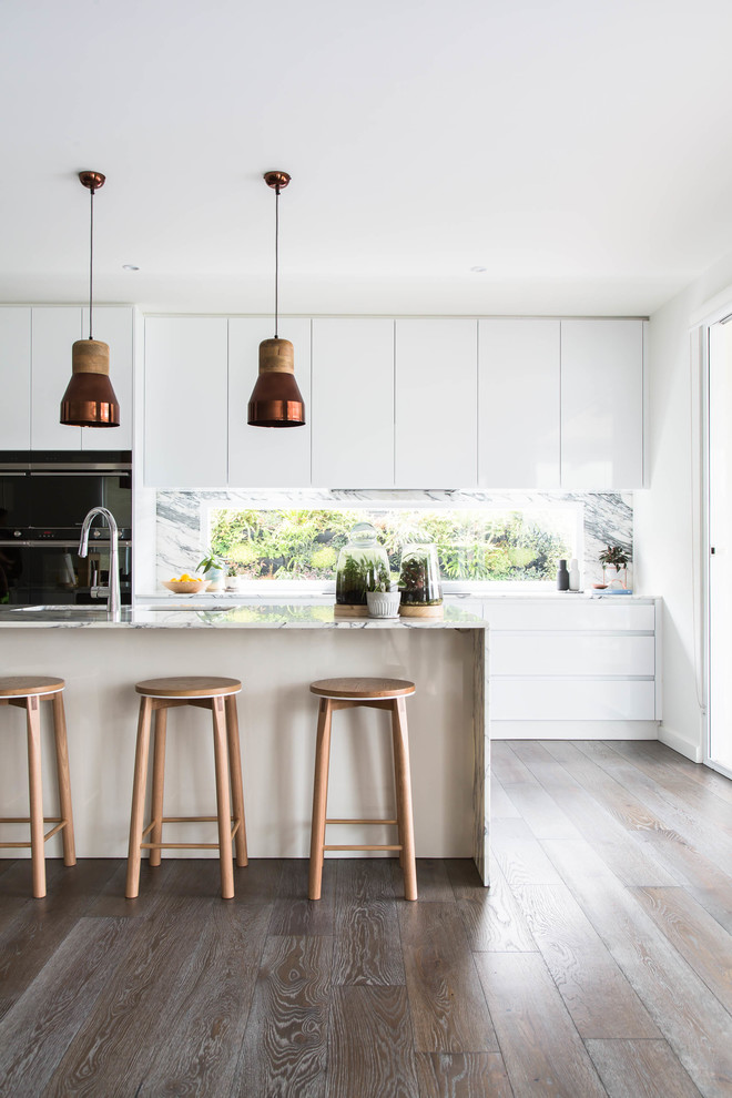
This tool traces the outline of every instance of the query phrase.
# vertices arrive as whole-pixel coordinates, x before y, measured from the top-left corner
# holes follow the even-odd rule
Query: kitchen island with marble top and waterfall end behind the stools
[[[471,854],[488,884],[488,645],[481,618],[454,606],[446,606],[443,619],[334,619],[333,607],[302,602],[193,607],[171,601],[126,609],[119,621],[74,607],[0,611],[2,673],[47,673],[67,681],[80,856],[126,853],[139,701],[134,683],[221,674],[243,682],[238,708],[250,854],[306,857],[317,714],[309,683],[373,674],[411,679],[417,687],[407,710],[417,855]],[[339,736],[340,721],[357,734]],[[6,715],[4,722],[13,726],[3,729],[0,804],[3,815],[22,815],[24,732],[19,721]],[[51,750],[48,728],[43,750]],[[203,714],[176,712],[166,814],[211,813],[212,756]],[[331,814],[389,815],[389,771],[383,715],[340,716],[334,726]],[[47,765],[47,803],[52,805],[51,775]],[[356,837],[358,830],[349,830],[354,842],[374,841],[373,828],[363,834]],[[181,841],[174,825],[170,838]],[[50,843],[48,854],[54,853]]]

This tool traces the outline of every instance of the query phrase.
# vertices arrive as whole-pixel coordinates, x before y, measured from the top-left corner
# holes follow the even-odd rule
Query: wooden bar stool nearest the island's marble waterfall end
[[[399,851],[404,872],[404,894],[417,898],[415,837],[411,820],[411,780],[409,776],[409,739],[407,735],[406,699],[415,692],[414,682],[406,679],[319,679],[311,683],[311,692],[321,699],[315,750],[315,782],[313,789],[313,832],[311,836],[311,870],[308,896],[321,898],[323,857],[325,851]],[[394,781],[396,820],[328,820],[328,764],[331,761],[331,724],[336,709],[366,705],[385,709],[392,714],[394,744]],[[382,845],[326,845],[326,824],[395,824],[398,843]]]

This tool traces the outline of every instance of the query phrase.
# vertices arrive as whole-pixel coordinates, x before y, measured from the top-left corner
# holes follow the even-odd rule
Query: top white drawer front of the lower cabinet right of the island
[[[617,596],[619,600],[623,596]],[[608,600],[579,600],[568,594],[566,602],[549,599],[547,602],[519,602],[508,599],[484,600],[484,618],[491,629],[597,629],[640,630],[652,632],[655,627],[655,607],[652,602],[610,603]]]

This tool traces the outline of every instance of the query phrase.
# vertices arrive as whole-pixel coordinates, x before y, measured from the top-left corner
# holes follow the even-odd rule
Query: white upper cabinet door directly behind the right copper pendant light
[[[305,401],[304,427],[250,427],[246,411],[260,368],[260,344],[272,318],[228,322],[228,484],[232,488],[307,488],[311,482],[311,322],[281,321],[295,348],[295,378]]]

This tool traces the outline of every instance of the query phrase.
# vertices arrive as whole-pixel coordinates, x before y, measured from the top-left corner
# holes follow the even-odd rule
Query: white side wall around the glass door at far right
[[[732,284],[732,253],[651,316],[649,489],[636,494],[637,590],[663,614],[659,739],[701,762],[700,424],[691,367],[694,313]],[[732,291],[730,292],[732,301]]]

